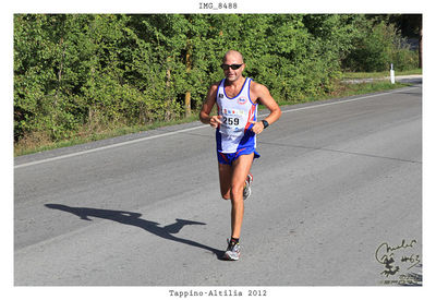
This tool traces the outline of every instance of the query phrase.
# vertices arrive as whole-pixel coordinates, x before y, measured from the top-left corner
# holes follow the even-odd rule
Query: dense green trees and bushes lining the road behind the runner
[[[198,110],[223,53],[280,100],[330,93],[343,69],[416,68],[392,25],[364,15],[16,14],[14,139],[59,141]]]

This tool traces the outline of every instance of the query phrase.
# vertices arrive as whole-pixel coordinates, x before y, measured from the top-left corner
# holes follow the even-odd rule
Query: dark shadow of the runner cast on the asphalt
[[[175,219],[174,224],[160,227],[158,226],[159,224],[156,221],[150,221],[140,218],[142,214],[138,213],[111,211],[111,209],[97,209],[88,207],[71,207],[62,204],[45,204],[45,206],[51,209],[59,209],[71,213],[84,220],[92,220],[89,217],[97,217],[97,218],[110,219],[125,225],[136,226],[160,238],[208,250],[215,253],[215,255],[217,255],[218,259],[220,259],[223,254],[223,251],[221,250],[214,249],[211,247],[201,244],[195,241],[172,236],[173,233],[178,233],[186,225],[206,225],[205,223],[178,218]]]

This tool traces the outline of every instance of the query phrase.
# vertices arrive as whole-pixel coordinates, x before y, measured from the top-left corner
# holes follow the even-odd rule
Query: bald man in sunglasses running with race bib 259
[[[216,129],[221,196],[231,200],[231,237],[223,259],[237,261],[244,199],[250,196],[253,181],[250,169],[253,160],[261,156],[256,151],[256,135],[276,122],[281,110],[267,87],[242,76],[245,63],[239,51],[226,52],[221,68],[225,79],[210,86],[199,120]],[[258,104],[270,111],[262,121],[257,120]],[[210,116],[215,105],[218,115]]]

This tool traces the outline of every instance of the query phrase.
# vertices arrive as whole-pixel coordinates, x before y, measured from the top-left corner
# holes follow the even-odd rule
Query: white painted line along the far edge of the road
[[[388,94],[395,94],[395,93],[398,93],[398,92],[404,92],[404,91],[410,91],[410,89],[415,89],[415,88],[419,88],[419,87],[411,87],[411,88],[407,88],[407,89],[404,89],[404,88],[395,89],[395,91],[391,91],[391,92],[386,92],[386,93],[380,93],[380,94],[376,94],[376,95],[368,95],[368,96],[358,97],[358,98],[353,98],[353,99],[349,99],[349,100],[339,100],[339,101],[335,101],[335,103],[319,104],[319,105],[313,105],[313,106],[306,106],[306,107],[301,107],[301,108],[282,110],[281,112],[282,113],[287,113],[287,112],[293,112],[293,111],[299,111],[299,110],[303,110],[303,109],[312,109],[312,108],[318,108],[318,107],[329,106],[329,105],[352,103],[352,101],[358,101],[358,100],[367,99],[367,98],[374,98],[374,97],[378,97],[378,96],[384,96],[384,95],[388,95]],[[266,117],[266,116],[267,115],[259,115],[258,117]],[[97,152],[97,151],[104,151],[104,149],[120,147],[120,146],[134,144],[134,143],[140,143],[140,142],[144,142],[144,141],[148,141],[148,140],[153,140],[153,139],[157,139],[157,137],[174,135],[174,134],[178,134],[178,133],[187,132],[187,131],[192,131],[192,130],[196,130],[196,129],[201,129],[201,128],[206,128],[206,127],[209,127],[209,125],[208,124],[203,124],[203,125],[198,125],[198,127],[194,127],[194,128],[182,129],[182,130],[178,130],[178,131],[171,131],[171,132],[161,133],[161,134],[157,134],[157,135],[153,135],[153,136],[146,136],[146,137],[142,137],[142,139],[133,140],[133,141],[126,141],[126,142],[121,142],[121,143],[117,143],[117,144],[111,144],[111,145],[107,145],[107,146],[102,146],[102,147],[98,147],[98,148],[94,148],[94,149],[81,151],[81,152],[65,154],[65,155],[56,156],[56,157],[51,157],[51,158],[46,158],[46,159],[41,159],[41,160],[31,161],[31,163],[26,163],[26,164],[14,166],[14,169],[28,167],[28,166],[34,166],[34,165],[39,165],[39,164],[49,163],[49,161],[53,161],[53,160],[59,160],[59,159],[63,159],[63,158],[74,157],[74,156],[88,154],[88,153],[93,153],[93,152]]]

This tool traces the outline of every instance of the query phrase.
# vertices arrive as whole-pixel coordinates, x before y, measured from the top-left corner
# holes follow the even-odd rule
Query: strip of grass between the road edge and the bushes
[[[367,74],[367,73],[365,73],[365,74]],[[361,84],[341,84],[337,91],[335,91],[334,93],[330,93],[328,95],[323,95],[323,96],[317,96],[317,97],[307,97],[307,98],[304,98],[299,101],[296,101],[296,100],[295,101],[284,101],[284,100],[280,100],[280,99],[277,99],[277,100],[280,106],[293,105],[293,104],[300,104],[300,103],[317,101],[317,100],[325,100],[325,99],[330,99],[330,98],[340,98],[340,97],[348,97],[348,96],[353,96],[353,95],[375,93],[375,92],[380,92],[380,91],[388,91],[388,89],[399,88],[399,87],[403,87],[403,86],[408,86],[408,84],[401,84],[401,83],[390,84],[389,82],[386,82],[386,81],[373,82],[373,83],[361,83]],[[261,106],[259,109],[263,109],[263,106]],[[153,130],[153,129],[168,127],[168,125],[189,123],[189,122],[198,120],[197,115],[198,113],[194,111],[192,113],[192,116],[189,118],[183,118],[183,119],[179,119],[179,120],[174,120],[174,121],[170,121],[170,122],[155,122],[153,124],[137,125],[137,127],[121,127],[117,130],[101,131],[98,133],[92,133],[87,136],[76,136],[76,137],[73,137],[73,139],[66,140],[66,141],[49,142],[49,141],[43,140],[40,142],[32,143],[32,144],[16,144],[16,145],[14,145],[14,156],[26,155],[26,154],[37,153],[37,152],[44,152],[44,151],[49,151],[49,149],[55,149],[55,148],[60,148],[60,147],[68,147],[68,146],[73,146],[73,145],[77,145],[77,144],[84,144],[84,143],[88,143],[88,142],[93,142],[93,141],[110,139],[110,137],[114,137],[114,136]]]

